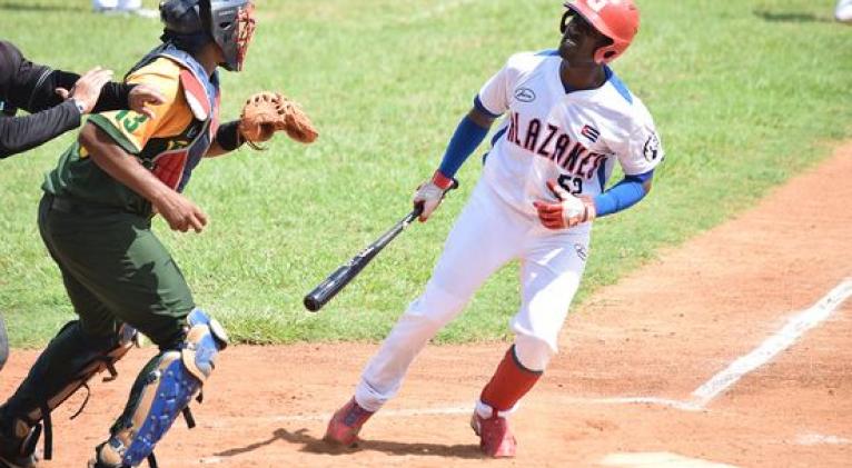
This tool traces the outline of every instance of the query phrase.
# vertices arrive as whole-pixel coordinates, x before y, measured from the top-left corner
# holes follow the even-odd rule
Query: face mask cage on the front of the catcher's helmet
[[[249,0],[202,0],[209,2],[208,30],[222,51],[226,70],[240,71],[255,34],[255,6]],[[202,8],[204,10],[204,8]]]

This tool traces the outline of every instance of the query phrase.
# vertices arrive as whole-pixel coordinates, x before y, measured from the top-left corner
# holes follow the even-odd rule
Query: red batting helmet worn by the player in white
[[[608,63],[624,53],[638,31],[640,12],[633,0],[571,0],[564,6],[568,9],[566,16],[571,12],[582,16],[598,32],[612,39],[612,44],[595,51],[594,60],[598,63]]]

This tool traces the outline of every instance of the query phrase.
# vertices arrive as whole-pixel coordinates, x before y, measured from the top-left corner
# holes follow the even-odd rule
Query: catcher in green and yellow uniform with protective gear
[[[140,371],[123,412],[95,449],[90,468],[153,466],[156,444],[199,394],[228,338],[198,308],[175,260],[151,230],[200,232],[207,215],[182,195],[202,157],[285,131],[317,137],[296,104],[273,93],[249,99],[244,118],[219,125],[219,67],[240,71],[255,31],[248,0],[165,0],[162,44],[127,74],[159,89],[155,118],[92,116],[42,186],[39,230],[78,319],[66,323],[14,394],[0,406],[0,467],[37,466],[50,411],[132,346],[137,330],[160,352]],[[211,19],[216,20],[212,21]]]

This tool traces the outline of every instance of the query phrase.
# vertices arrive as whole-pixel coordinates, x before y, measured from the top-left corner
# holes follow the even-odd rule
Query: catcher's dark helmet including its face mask
[[[166,31],[206,34],[225,56],[227,70],[239,71],[255,33],[250,0],[162,0],[160,19]]]

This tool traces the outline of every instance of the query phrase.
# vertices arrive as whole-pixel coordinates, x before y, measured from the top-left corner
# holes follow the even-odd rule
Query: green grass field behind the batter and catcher
[[[747,209],[852,133],[852,28],[832,21],[833,1],[638,3],[642,31],[614,68],[655,116],[667,160],[651,197],[596,223],[578,301]],[[88,6],[0,0],[3,38],[38,62],[119,74],[158,42],[157,21]],[[479,86],[509,54],[555,47],[561,11],[552,0],[259,0],[246,71],[222,77],[224,117],[251,92],[280,90],[320,139],[279,138],[264,153],[202,165],[187,193],[211,218],[205,233],[158,221],[198,303],[248,342],[380,339],[428,279],[477,157],[433,220],[323,312],[306,312],[301,297],[407,211]],[[14,346],[43,345],[72,317],[34,222],[43,172],[72,138],[2,161],[0,310]],[[505,338],[516,277],[514,265],[496,275],[439,339]]]

